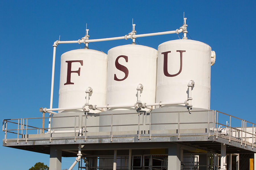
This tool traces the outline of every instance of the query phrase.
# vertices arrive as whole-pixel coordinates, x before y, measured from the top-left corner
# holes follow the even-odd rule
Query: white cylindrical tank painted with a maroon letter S
[[[143,84],[142,103],[155,103],[157,50],[142,45],[123,45],[108,51],[108,105],[137,102],[137,86]],[[132,108],[125,108],[132,109]]]

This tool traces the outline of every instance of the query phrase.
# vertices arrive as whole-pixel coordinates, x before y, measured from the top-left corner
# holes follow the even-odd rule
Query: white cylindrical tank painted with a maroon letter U
[[[167,41],[158,46],[156,102],[184,101],[188,82],[193,107],[210,109],[211,47],[188,39]],[[185,105],[185,104],[184,104]],[[182,105],[176,105],[178,107]]]

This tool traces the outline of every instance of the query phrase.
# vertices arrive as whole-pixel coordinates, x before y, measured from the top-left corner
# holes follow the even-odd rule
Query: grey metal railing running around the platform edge
[[[184,113],[184,112],[208,112],[208,121],[201,121],[201,122],[181,122],[180,121],[180,113]],[[212,120],[210,121],[210,112],[212,112]],[[170,122],[165,122],[165,123],[151,123],[151,114],[158,114],[158,113],[177,113],[178,114],[178,120],[174,123],[170,123]],[[229,125],[225,125],[225,124],[222,124],[220,122],[218,122],[218,114],[224,114],[224,115],[227,115],[230,117],[230,124]],[[142,115],[142,123],[141,123],[141,120],[140,120],[140,117],[141,116],[138,116],[138,122],[135,123],[135,124],[115,124],[115,122],[113,122],[113,116],[115,115],[128,115],[128,114],[139,114],[139,115]],[[109,125],[93,125],[93,126],[86,126],[86,119],[87,117],[90,117],[90,116],[111,116],[111,124]],[[147,117],[149,116],[149,123],[147,122]],[[30,119],[45,119],[45,118],[50,118],[50,119],[57,119],[57,118],[67,118],[67,117],[74,117],[75,118],[75,124],[74,126],[66,126],[66,127],[49,127],[49,128],[38,128],[38,127],[34,127],[34,126],[30,126],[28,125],[27,123],[24,123],[24,121],[26,120],[30,120]],[[83,119],[85,117],[85,122],[83,122]],[[64,129],[64,128],[74,128],[75,131],[74,131],[74,135],[75,135],[75,140],[76,140],[76,128],[92,128],[92,127],[111,127],[111,141],[112,141],[112,137],[113,137],[113,129],[112,127],[116,127],[116,126],[138,126],[138,131],[140,131],[140,126],[144,125],[144,117],[146,118],[146,121],[145,121],[145,125],[149,125],[149,139],[151,139],[151,125],[170,125],[170,124],[176,124],[178,125],[178,138],[180,138],[180,127],[179,125],[180,124],[208,124],[208,138],[209,138],[209,135],[210,135],[210,126],[209,124],[210,123],[214,123],[216,124],[216,128],[217,128],[217,133],[216,133],[216,138],[218,138],[218,125],[221,125],[221,126],[224,126],[226,127],[227,129],[229,129],[230,133],[233,134],[234,131],[238,131],[238,138],[241,138],[241,145],[242,145],[242,139],[245,139],[245,145],[246,145],[246,138],[249,138],[249,139],[253,139],[252,141],[254,141],[254,138],[255,138],[255,141],[256,141],[256,134],[254,134],[254,123],[252,122],[249,122],[249,121],[246,121],[246,120],[243,120],[241,118],[238,118],[236,116],[232,116],[230,114],[226,114],[224,112],[220,112],[220,111],[217,111],[215,110],[198,110],[198,111],[164,111],[164,112],[152,112],[152,111],[139,111],[139,112],[133,112],[133,113],[108,113],[108,114],[86,114],[86,115],[69,115],[69,116],[54,116],[54,117],[37,117],[37,118],[20,118],[20,119],[4,119],[3,120],[3,131],[5,131],[5,140],[7,140],[7,137],[6,137],[6,133],[7,132],[10,132],[10,133],[15,133],[15,134],[18,134],[18,135],[24,135],[23,134],[23,130],[26,131],[26,141],[27,141],[27,130],[40,130],[40,133],[41,133],[41,130],[47,130],[49,131],[50,134],[54,133],[52,132],[52,129]],[[232,118],[236,118],[238,120],[241,120],[242,121],[242,124],[241,124],[241,129],[238,129],[238,127],[232,127],[231,126],[231,117]],[[77,126],[77,118],[79,119],[79,123],[78,123],[78,126]],[[80,118],[81,121],[80,121]],[[206,119],[206,118],[205,118]],[[18,120],[18,123],[17,122],[13,122],[12,120]],[[19,123],[19,121],[21,120],[21,122]],[[136,120],[135,120],[136,121]],[[7,129],[7,122],[9,123],[12,123],[12,124],[18,124],[18,128],[17,129]],[[23,122],[23,123],[22,123]],[[246,127],[246,123],[251,123],[253,126],[252,126],[252,133],[251,131],[247,131],[247,127]],[[83,125],[84,124],[84,125]],[[20,125],[20,128],[19,128],[19,125]],[[28,128],[29,127],[29,128]],[[215,126],[214,126],[215,127]],[[256,127],[256,126],[255,126]],[[212,128],[212,127],[211,127]],[[240,128],[240,127],[239,127]],[[251,127],[250,127],[251,128]],[[19,133],[19,130],[21,131],[21,133]],[[18,131],[17,133],[16,132],[13,132],[13,131]],[[256,131],[256,130],[255,130]],[[62,131],[63,132],[63,131]],[[62,133],[61,132],[61,133]],[[241,136],[240,136],[240,132],[241,132]],[[63,132],[64,133],[64,132]],[[65,132],[65,133],[69,133],[69,132]],[[85,141],[86,141],[86,131],[84,132],[85,133]],[[235,135],[236,135],[235,133]],[[243,137],[243,134],[242,133],[245,133],[245,136]],[[248,135],[251,135],[251,137],[247,137],[247,134]],[[50,135],[51,136],[51,135]],[[230,137],[233,137],[233,135],[229,134],[229,138]],[[17,137],[18,138],[18,137]],[[140,138],[140,133],[138,133],[138,139]],[[229,139],[230,140],[230,139]],[[51,141],[51,137],[50,137],[50,141]],[[252,147],[253,147],[253,143],[252,142]]]

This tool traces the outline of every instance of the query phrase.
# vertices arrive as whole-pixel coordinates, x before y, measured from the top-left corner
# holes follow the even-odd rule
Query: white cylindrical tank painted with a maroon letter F
[[[88,87],[93,89],[89,103],[106,105],[106,82],[107,54],[91,49],[65,52],[61,55],[59,108],[82,107]]]

